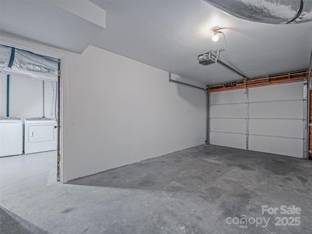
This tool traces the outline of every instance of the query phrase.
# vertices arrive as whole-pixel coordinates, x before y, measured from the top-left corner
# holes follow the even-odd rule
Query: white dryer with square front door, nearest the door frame
[[[57,150],[58,124],[51,118],[25,119],[24,153],[32,154]]]

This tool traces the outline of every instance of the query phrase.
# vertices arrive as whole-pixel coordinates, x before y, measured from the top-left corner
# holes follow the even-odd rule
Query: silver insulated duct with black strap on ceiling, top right
[[[203,0],[221,11],[260,23],[285,24],[312,21],[312,0]]]

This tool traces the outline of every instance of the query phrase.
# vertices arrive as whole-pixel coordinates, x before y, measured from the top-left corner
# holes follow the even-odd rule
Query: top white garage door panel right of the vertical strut
[[[303,99],[303,82],[256,86],[249,88],[249,91],[250,102]]]

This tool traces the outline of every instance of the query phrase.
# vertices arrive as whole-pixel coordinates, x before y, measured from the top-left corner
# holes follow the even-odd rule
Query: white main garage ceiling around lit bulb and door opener
[[[99,35],[98,31],[88,35],[88,25],[75,24],[81,32],[74,40],[69,41],[68,35],[57,35],[65,44],[62,48],[81,41],[88,42],[203,84],[240,79],[219,64],[203,66],[196,60],[199,54],[223,45],[222,38],[218,42],[211,39],[211,28],[219,26],[225,27],[222,31],[227,41],[221,60],[249,78],[309,68],[312,22],[279,25],[256,23],[226,15],[201,0],[91,1],[105,9],[106,29]],[[38,16],[32,8],[34,4],[41,3],[33,1],[33,5],[25,4],[22,9],[25,14],[19,14],[16,9],[6,13],[2,2],[1,31],[36,40],[34,33],[38,36],[49,30],[52,22],[44,17],[44,13],[53,13],[52,7],[55,6],[52,4],[41,2],[46,6],[40,9],[38,15],[46,27],[35,28],[32,21],[36,22]],[[6,5],[13,4],[11,2],[14,1]],[[26,18],[28,24],[22,23]],[[51,45],[47,39],[40,40]]]

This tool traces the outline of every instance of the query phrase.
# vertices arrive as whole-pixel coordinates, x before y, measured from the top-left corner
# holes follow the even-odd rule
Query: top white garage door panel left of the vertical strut
[[[243,89],[227,90],[210,94],[210,104],[242,103],[246,102]]]

